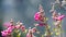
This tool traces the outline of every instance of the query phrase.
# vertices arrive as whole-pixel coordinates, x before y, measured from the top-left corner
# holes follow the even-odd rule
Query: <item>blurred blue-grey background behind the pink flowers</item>
[[[53,28],[53,18],[51,17],[52,14],[50,10],[52,8],[51,3],[54,1],[55,0],[0,0],[0,32],[3,29],[2,24],[9,22],[10,18],[13,18],[15,23],[18,21],[23,22],[26,28],[33,27],[34,23],[36,23],[34,21],[34,14],[38,11],[38,4],[43,5],[46,16],[48,17],[47,23]],[[66,15],[65,9],[55,8],[57,12]],[[64,30],[63,36],[66,37],[66,17],[63,20],[62,26]],[[38,26],[37,28],[41,34],[44,33],[44,27]]]

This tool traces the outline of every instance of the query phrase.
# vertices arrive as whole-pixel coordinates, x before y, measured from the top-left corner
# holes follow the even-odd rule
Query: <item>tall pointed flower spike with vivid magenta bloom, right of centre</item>
[[[45,12],[43,10],[43,7],[40,4],[38,12],[35,13],[34,15],[35,21],[38,22],[40,26],[45,26],[46,25],[46,16]]]

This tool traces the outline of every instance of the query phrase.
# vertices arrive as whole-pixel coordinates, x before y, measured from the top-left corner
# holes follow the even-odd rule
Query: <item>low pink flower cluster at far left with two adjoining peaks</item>
[[[20,22],[18,22],[16,25],[13,25],[13,22],[4,23],[3,25],[7,27],[7,29],[1,32],[2,36],[11,35],[13,29],[22,29],[22,32],[25,30],[25,26]]]

